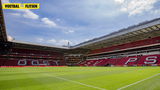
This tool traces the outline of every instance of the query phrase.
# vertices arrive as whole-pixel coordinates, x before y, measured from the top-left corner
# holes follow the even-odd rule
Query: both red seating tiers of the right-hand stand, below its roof
[[[92,50],[79,66],[160,66],[160,37]],[[146,47],[146,48],[144,48]],[[135,49],[137,48],[137,49]],[[130,49],[127,51],[127,49]],[[122,52],[118,52],[122,51]],[[112,53],[108,53],[112,52]]]

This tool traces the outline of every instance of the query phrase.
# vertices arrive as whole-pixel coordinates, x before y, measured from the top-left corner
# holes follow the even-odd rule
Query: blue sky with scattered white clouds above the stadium
[[[4,10],[8,38],[75,45],[160,16],[160,0],[2,0],[40,3],[38,10]]]

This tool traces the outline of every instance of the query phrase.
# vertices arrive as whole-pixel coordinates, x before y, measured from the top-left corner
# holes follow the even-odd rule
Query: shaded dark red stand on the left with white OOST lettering
[[[1,66],[61,66],[65,65],[63,54],[39,50],[12,49],[0,55]]]

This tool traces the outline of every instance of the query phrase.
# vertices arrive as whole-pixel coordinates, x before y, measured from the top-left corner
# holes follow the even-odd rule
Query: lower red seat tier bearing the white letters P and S
[[[132,56],[114,59],[86,60],[79,63],[79,66],[143,66],[143,65],[160,65],[160,55]]]

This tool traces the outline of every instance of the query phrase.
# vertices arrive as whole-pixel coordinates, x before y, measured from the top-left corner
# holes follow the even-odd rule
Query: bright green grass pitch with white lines
[[[160,90],[160,67],[0,68],[0,90]]]

